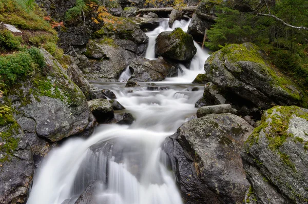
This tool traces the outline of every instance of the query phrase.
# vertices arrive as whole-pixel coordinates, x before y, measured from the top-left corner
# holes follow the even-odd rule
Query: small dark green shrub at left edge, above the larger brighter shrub
[[[18,50],[21,47],[22,38],[15,37],[9,30],[0,30],[0,49]]]

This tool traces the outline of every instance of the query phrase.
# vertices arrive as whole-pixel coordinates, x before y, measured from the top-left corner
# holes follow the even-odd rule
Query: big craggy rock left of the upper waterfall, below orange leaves
[[[87,58],[78,64],[89,81],[117,81],[131,61],[146,51],[148,37],[137,24],[123,17],[112,17],[112,22],[93,33],[83,52]]]

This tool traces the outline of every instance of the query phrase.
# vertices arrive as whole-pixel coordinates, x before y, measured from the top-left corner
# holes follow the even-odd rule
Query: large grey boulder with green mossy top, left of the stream
[[[83,92],[66,75],[65,68],[44,49],[37,50],[31,77],[7,87],[4,98],[30,144],[36,167],[56,141],[71,135],[88,135],[95,118]]]

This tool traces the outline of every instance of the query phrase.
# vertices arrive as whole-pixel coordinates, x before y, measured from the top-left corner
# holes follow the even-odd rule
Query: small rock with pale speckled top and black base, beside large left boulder
[[[89,100],[88,106],[99,123],[108,123],[113,118],[113,109],[107,99]]]

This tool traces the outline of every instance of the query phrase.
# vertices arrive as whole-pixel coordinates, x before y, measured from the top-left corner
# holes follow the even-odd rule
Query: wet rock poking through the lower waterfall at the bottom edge
[[[74,204],[98,204],[96,193],[99,189],[99,182],[92,181]]]

